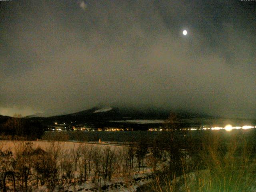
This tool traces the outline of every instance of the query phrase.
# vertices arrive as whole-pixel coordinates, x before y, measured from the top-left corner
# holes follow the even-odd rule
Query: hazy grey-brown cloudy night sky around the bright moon
[[[9,0],[0,15],[2,115],[101,105],[256,118],[256,1]]]

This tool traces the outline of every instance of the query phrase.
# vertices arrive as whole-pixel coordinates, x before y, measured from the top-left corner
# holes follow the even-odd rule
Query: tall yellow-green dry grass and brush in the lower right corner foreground
[[[190,153],[190,158],[180,159],[182,175],[176,176],[175,172],[155,175],[152,191],[256,191],[254,139],[243,131],[207,132],[202,137],[202,142],[197,143],[198,150]]]

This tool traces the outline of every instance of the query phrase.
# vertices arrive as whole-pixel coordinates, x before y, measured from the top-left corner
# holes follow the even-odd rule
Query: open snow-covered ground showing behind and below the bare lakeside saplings
[[[27,141],[28,142],[28,141]],[[48,141],[32,141],[33,148],[41,148],[44,151],[48,151],[49,148],[54,148],[54,150],[61,150],[71,152],[72,149],[77,149],[79,147],[91,148],[95,147],[97,150],[106,149],[109,147],[111,150],[116,152],[122,150],[122,148],[127,148],[127,146],[115,146],[104,144],[90,144],[90,143],[81,143],[81,142],[48,142]],[[13,152],[14,158],[16,157],[17,152],[20,148],[26,147],[26,141],[0,141],[0,150],[10,150]],[[72,158],[72,156],[70,156]],[[135,161],[135,160],[134,160]],[[78,169],[79,170],[79,169]],[[114,173],[111,180],[106,180],[106,183],[103,180],[96,179],[92,182],[92,176],[88,178],[87,181],[80,181],[80,172],[73,172],[73,179],[69,182],[64,182],[63,191],[66,192],[90,192],[90,191],[104,191],[104,192],[136,192],[137,188],[147,184],[152,181],[152,168],[144,167],[143,170],[138,167],[134,167],[134,172],[130,175]],[[60,178],[59,178],[60,180]],[[47,191],[46,186],[32,187],[32,191]],[[55,191],[58,191],[57,189]]]

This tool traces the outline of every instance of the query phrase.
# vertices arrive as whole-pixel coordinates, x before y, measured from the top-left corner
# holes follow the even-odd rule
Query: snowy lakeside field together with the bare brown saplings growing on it
[[[150,155],[143,157],[143,162],[138,162],[135,148],[132,149],[133,154],[129,156],[128,146],[82,142],[32,141],[28,144],[24,141],[0,141],[0,150],[2,152],[11,151],[12,158],[16,162],[19,162],[17,158],[23,157],[20,154],[24,154],[24,151],[28,150],[30,146],[32,146],[33,151],[38,151],[37,149],[40,148],[51,154],[52,162],[55,162],[54,166],[56,166],[58,172],[58,174],[55,174],[57,178],[53,179],[56,182],[54,190],[50,189],[50,184],[46,183],[53,181],[44,180],[44,182],[41,181],[38,184],[38,179],[36,180],[34,177],[37,174],[36,169],[33,167],[33,162],[30,162],[31,159],[36,157],[31,157],[31,159],[30,157],[24,157],[25,160],[29,161],[24,165],[28,166],[29,164],[29,167],[31,167],[27,181],[28,188],[31,191],[135,192],[138,187],[152,180]],[[111,156],[112,158],[109,158]],[[41,157],[40,154],[38,157]],[[3,158],[0,159],[0,163],[3,164],[3,162],[5,162]],[[108,165],[108,163],[112,165]],[[138,166],[138,163],[142,163],[143,166]],[[20,171],[17,170],[18,165],[16,165],[16,168],[11,165],[7,167],[14,173]],[[5,168],[2,166],[0,169]],[[111,175],[110,172],[112,172]],[[87,174],[86,178],[84,177],[85,174]],[[49,178],[52,178],[52,176],[49,175]],[[24,181],[16,182],[16,188],[24,188]],[[8,191],[13,191],[11,181],[8,184]]]

